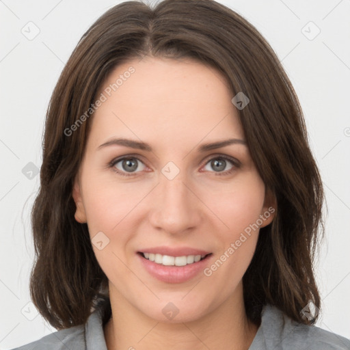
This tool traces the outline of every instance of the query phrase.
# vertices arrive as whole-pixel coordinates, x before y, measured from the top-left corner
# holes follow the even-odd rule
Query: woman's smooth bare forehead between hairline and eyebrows
[[[211,136],[243,137],[226,78],[191,59],[132,59],[116,67],[100,94],[92,137],[130,136],[193,144]]]

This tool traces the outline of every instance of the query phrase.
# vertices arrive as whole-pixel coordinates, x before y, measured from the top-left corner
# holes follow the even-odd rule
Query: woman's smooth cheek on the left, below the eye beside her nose
[[[129,273],[122,263],[127,259],[124,247],[135,236],[135,208],[144,195],[131,184],[118,185],[93,174],[85,177],[83,185],[87,226],[96,259],[109,280],[121,278]]]

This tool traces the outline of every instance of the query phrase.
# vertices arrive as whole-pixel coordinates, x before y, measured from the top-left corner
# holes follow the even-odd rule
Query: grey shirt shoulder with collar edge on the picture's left
[[[87,346],[89,345],[89,346]],[[85,350],[104,349],[105,338],[98,311],[92,312],[85,325],[62,329],[12,350]]]

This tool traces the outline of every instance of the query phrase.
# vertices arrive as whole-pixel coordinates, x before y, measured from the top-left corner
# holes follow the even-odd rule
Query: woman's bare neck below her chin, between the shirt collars
[[[107,349],[247,350],[258,327],[247,319],[243,293],[238,294],[241,298],[232,295],[196,321],[165,323],[147,317],[120,294],[110,293],[114,317],[104,329]]]

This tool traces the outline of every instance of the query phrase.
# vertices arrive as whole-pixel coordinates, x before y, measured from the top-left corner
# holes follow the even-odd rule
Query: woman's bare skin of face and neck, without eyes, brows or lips
[[[197,150],[208,142],[244,140],[233,95],[213,68],[191,59],[154,57],[118,66],[103,88],[130,66],[133,75],[90,121],[73,190],[77,221],[87,222],[91,238],[103,232],[109,239],[102,250],[93,245],[109,279],[113,316],[104,329],[107,348],[248,349],[258,327],[245,314],[242,277],[258,230],[211,276],[201,272],[183,283],[153,278],[136,255],[159,245],[196,247],[212,252],[210,267],[275,205],[246,145]],[[98,148],[113,137],[146,142],[152,152],[119,145]],[[134,159],[139,167],[132,176],[122,161],[109,166],[129,155],[140,159]],[[225,155],[240,165],[226,161],[218,172],[211,160]],[[180,170],[172,180],[161,173],[169,161]],[[174,319],[162,312],[170,301],[179,310]]]

